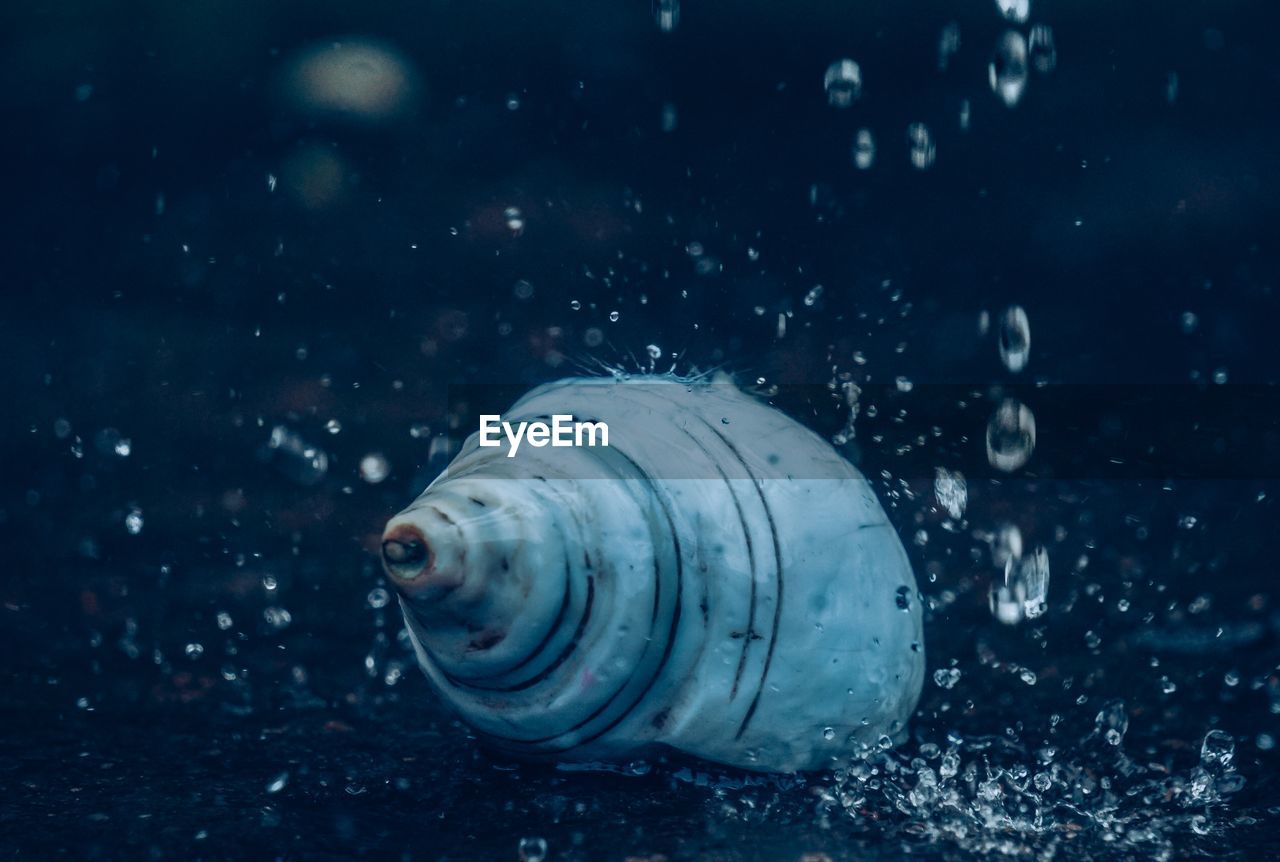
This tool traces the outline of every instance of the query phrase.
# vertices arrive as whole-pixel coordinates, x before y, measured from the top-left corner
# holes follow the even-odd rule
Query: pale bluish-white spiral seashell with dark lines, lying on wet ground
[[[384,534],[422,670],[488,743],[794,771],[901,735],[920,607],[852,465],[723,384],[570,379],[503,419],[554,414],[609,446],[474,434]]]

